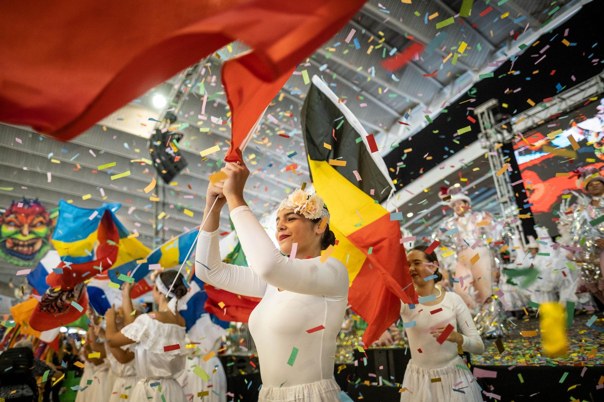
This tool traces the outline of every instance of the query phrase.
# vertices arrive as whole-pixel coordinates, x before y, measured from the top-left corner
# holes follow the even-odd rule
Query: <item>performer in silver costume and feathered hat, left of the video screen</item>
[[[440,224],[434,237],[456,254],[454,263],[447,264],[447,257],[443,262],[449,272],[455,272],[455,293],[471,311],[477,311],[492,295],[493,273],[498,272],[487,242],[494,236],[493,217],[489,212],[472,211],[470,197],[459,187],[449,187],[445,194],[441,193],[443,199],[447,196],[454,215]]]

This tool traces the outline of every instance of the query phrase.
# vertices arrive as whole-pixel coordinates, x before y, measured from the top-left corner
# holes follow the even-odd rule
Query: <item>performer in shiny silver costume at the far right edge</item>
[[[591,197],[579,200],[571,207],[573,246],[582,250],[570,251],[568,257],[573,258],[581,269],[578,291],[588,290],[604,302],[604,221],[593,222],[604,215],[604,177],[591,167],[580,171],[580,176],[583,179],[580,187]],[[563,213],[561,219],[563,217],[568,215]]]

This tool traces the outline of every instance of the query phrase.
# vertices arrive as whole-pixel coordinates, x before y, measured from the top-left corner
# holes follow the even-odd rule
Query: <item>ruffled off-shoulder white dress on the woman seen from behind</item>
[[[121,333],[136,342],[129,346],[134,351],[138,382],[131,390],[129,401],[184,401],[184,392],[176,378],[184,371],[190,352],[186,348],[185,327],[141,314],[122,328]],[[177,344],[178,349],[164,351],[165,346]]]

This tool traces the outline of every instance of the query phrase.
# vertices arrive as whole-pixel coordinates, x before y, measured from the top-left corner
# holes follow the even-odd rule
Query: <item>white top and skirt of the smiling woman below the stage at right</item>
[[[414,307],[414,308],[411,308]],[[431,311],[439,310],[432,314]],[[482,401],[476,379],[458,355],[457,343],[445,340],[442,345],[432,337],[431,330],[453,326],[463,336],[464,351],[483,354],[484,344],[470,315],[470,311],[457,293],[446,292],[445,298],[435,305],[401,304],[403,322],[415,326],[406,328],[411,360],[403,377],[400,400],[424,401]],[[440,381],[432,382],[435,378]],[[454,391],[457,389],[458,391]]]

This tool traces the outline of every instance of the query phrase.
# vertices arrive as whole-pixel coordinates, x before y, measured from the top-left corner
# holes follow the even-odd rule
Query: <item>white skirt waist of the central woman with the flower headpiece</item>
[[[258,402],[338,402],[340,392],[333,378],[291,387],[262,386]]]

